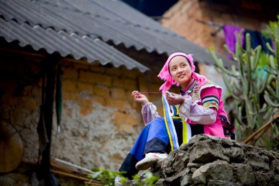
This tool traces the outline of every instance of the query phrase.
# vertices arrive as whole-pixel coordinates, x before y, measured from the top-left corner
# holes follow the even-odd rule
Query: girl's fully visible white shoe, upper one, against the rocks
[[[159,153],[147,153],[145,154],[145,158],[140,160],[136,164],[136,169],[138,170],[146,170],[151,167],[154,163],[158,162],[159,160],[163,160],[167,157],[166,154],[159,154]]]

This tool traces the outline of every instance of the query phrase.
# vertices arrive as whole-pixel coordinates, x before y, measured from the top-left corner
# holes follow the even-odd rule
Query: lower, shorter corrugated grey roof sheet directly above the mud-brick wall
[[[52,28],[44,29],[40,25],[19,24],[13,20],[6,22],[1,18],[0,25],[0,36],[7,42],[18,40],[20,46],[30,45],[35,50],[44,48],[50,54],[57,51],[63,57],[71,55],[75,59],[86,58],[88,62],[99,61],[102,65],[111,63],[114,67],[125,66],[128,70],[148,70],[98,38],[86,35],[81,37],[74,32],[69,34],[63,30],[57,32]]]

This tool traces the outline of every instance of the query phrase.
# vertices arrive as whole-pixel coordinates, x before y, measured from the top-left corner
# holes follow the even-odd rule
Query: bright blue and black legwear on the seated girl
[[[174,119],[173,124],[177,133],[178,143],[183,143],[183,125],[180,118]],[[191,136],[204,134],[203,125],[190,125]],[[124,176],[132,178],[139,170],[136,169],[136,164],[142,160],[146,153],[169,153],[171,146],[169,136],[167,134],[163,117],[156,117],[152,122],[148,123],[140,133],[132,150],[129,152],[124,162],[119,168],[119,171],[125,171]]]

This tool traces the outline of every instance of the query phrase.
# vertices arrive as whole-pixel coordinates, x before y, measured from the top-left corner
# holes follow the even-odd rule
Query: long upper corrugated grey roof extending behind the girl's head
[[[194,60],[200,64],[214,64],[206,48],[170,30],[166,31],[167,29],[162,25],[140,13],[135,13],[136,10],[129,8],[121,1],[48,1],[0,0],[0,15],[7,21],[15,19],[19,23],[26,22],[32,26],[40,24],[44,28],[52,27],[56,31],[65,30],[68,33],[75,32],[80,36],[100,37],[106,42],[113,41],[115,45],[134,46],[137,50],[157,51],[159,54],[165,52],[168,55],[177,51],[192,53]],[[99,11],[96,10],[98,8]],[[107,14],[111,17],[109,18]],[[127,18],[123,19],[125,15]],[[142,22],[140,22],[141,18]],[[226,67],[234,63],[225,57],[221,59]]]

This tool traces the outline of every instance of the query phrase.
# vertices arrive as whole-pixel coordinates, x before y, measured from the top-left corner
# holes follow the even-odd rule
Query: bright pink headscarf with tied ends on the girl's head
[[[186,59],[188,60],[188,62],[190,63],[190,66],[191,66],[191,69],[192,69],[192,78],[197,80],[198,81],[198,85],[199,86],[202,86],[204,85],[205,83],[208,82],[208,79],[204,76],[204,75],[200,75],[195,71],[196,67],[193,63],[193,57],[192,57],[193,54],[186,54],[186,53],[181,53],[181,52],[176,52],[176,53],[173,53],[171,54],[168,59],[166,60],[164,66],[163,66],[163,69],[160,71],[158,77],[160,77],[162,80],[164,80],[164,84],[160,87],[159,90],[162,90],[162,93],[168,91],[170,89],[170,87],[172,85],[176,85],[176,86],[179,86],[179,83],[177,81],[175,81],[172,77],[171,77],[171,74],[170,74],[170,71],[168,69],[168,65],[169,65],[169,62],[172,60],[172,58],[174,58],[175,56],[183,56],[183,57],[186,57]]]

